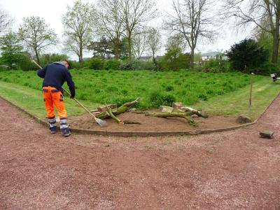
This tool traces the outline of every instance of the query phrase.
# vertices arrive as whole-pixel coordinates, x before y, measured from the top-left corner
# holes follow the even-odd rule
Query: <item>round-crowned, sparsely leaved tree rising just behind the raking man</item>
[[[36,16],[23,18],[23,25],[20,25],[18,34],[27,49],[34,52],[38,64],[40,64],[41,51],[49,45],[57,43],[57,34],[49,29],[43,18]]]

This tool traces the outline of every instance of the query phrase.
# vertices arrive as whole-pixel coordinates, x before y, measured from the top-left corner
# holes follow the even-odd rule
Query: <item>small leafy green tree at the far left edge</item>
[[[10,31],[2,36],[0,38],[0,46],[1,62],[9,66],[10,69],[15,68],[15,65],[18,64],[24,54],[18,34]]]

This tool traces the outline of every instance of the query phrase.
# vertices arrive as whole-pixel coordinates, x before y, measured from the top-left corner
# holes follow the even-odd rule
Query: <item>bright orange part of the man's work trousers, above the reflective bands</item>
[[[63,94],[55,87],[43,87],[43,98],[45,101],[45,109],[47,111],[47,118],[55,117],[55,110],[53,104],[57,109],[59,118],[67,118],[66,109],[63,103]]]

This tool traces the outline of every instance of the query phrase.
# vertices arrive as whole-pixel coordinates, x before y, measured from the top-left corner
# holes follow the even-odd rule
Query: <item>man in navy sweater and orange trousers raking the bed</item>
[[[64,137],[69,137],[71,134],[67,123],[66,109],[63,103],[62,85],[65,81],[69,86],[71,99],[75,97],[75,85],[68,68],[69,62],[66,59],[62,59],[61,62],[48,64],[43,67],[43,69],[37,71],[38,76],[44,78],[43,99],[47,111],[48,123],[50,125],[50,133],[55,134],[57,130],[55,112],[53,109],[53,104],[55,104],[60,118],[60,130]]]

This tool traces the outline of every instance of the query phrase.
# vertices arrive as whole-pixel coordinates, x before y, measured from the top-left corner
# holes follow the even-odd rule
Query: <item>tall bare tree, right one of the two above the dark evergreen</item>
[[[120,0],[120,13],[124,18],[125,37],[128,44],[128,57],[132,59],[132,38],[135,31],[155,18],[154,0]]]

